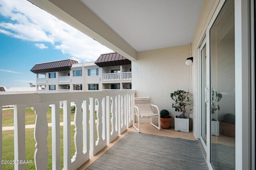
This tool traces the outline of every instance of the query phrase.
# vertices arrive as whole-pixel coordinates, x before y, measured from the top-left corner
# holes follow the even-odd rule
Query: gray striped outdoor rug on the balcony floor
[[[129,132],[88,170],[207,170],[198,141]]]

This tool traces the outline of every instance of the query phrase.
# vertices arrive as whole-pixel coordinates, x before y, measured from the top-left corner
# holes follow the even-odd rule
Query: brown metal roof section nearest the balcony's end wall
[[[118,53],[108,53],[100,55],[100,57],[94,63],[99,67],[108,67],[127,65],[131,64],[132,62]]]

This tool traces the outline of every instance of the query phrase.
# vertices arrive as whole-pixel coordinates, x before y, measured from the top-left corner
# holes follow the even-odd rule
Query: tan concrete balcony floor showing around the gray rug
[[[120,141],[120,139],[122,139],[129,132],[137,132],[137,131],[136,131],[136,129],[134,129],[133,126],[131,126],[124,133],[122,133],[115,141],[113,141],[107,147],[105,147],[103,150],[98,152],[98,154],[92,156],[90,158],[90,160],[88,160],[85,164],[83,164],[80,168],[78,168],[78,170],[84,170],[84,169],[88,168],[88,166],[90,166],[95,160],[100,158],[100,156],[102,156],[102,154],[104,154],[108,149],[110,149],[112,146],[114,146],[118,141]],[[187,132],[175,131],[174,127],[172,127],[171,129],[162,129],[161,128],[161,130],[159,131],[158,129],[156,129],[155,127],[150,125],[150,123],[140,123],[140,133],[196,141],[196,138],[194,137],[191,130],[187,133]]]

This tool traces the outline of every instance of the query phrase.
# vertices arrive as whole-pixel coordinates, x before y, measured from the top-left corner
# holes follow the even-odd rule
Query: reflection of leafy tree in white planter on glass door
[[[215,111],[220,110],[220,106],[218,102],[222,99],[222,94],[216,92],[212,87],[212,104],[211,104],[211,113],[214,114]],[[211,120],[211,134],[215,136],[219,136],[219,121],[212,116]]]

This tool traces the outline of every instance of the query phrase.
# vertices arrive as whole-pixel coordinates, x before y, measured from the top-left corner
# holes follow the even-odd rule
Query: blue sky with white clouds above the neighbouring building
[[[112,52],[27,0],[0,0],[0,86],[36,84],[30,69],[62,59],[95,61]]]

